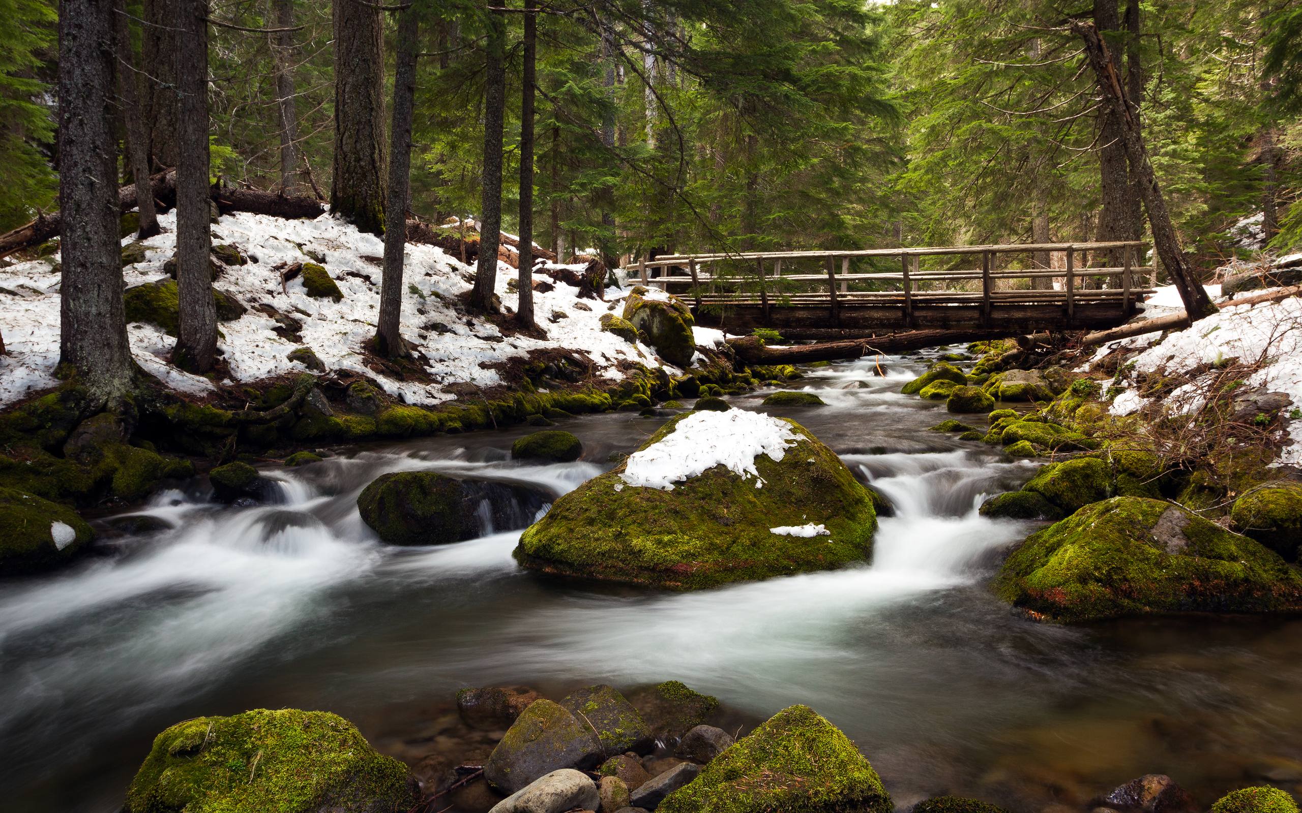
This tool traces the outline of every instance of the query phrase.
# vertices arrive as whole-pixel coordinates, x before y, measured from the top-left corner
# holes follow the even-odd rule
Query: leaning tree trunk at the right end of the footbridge
[[[1161,264],[1180,290],[1180,298],[1185,302],[1185,310],[1197,321],[1210,313],[1216,312],[1216,306],[1207,297],[1198,273],[1185,255],[1180,245],[1180,235],[1170,224],[1170,212],[1167,209],[1167,200],[1161,196],[1157,186],[1157,176],[1148,160],[1148,151],[1139,133],[1139,120],[1130,107],[1128,92],[1121,85],[1121,77],[1107,43],[1099,35],[1098,29],[1087,22],[1073,21],[1072,30],[1085,42],[1085,52],[1094,69],[1094,75],[1099,85],[1103,107],[1109,113],[1116,113],[1121,121],[1121,139],[1126,146],[1126,159],[1130,161],[1133,172],[1139,181],[1139,193],[1143,196],[1144,208],[1148,211],[1148,226],[1152,229],[1152,242],[1161,258]]]

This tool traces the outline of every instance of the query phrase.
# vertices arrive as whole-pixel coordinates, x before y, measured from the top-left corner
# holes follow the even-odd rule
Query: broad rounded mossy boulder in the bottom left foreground
[[[397,760],[326,712],[198,717],[154,739],[124,813],[389,813],[417,800]]]

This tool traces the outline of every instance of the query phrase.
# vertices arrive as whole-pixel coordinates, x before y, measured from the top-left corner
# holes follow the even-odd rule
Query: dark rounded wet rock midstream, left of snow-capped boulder
[[[380,475],[357,497],[357,510],[389,545],[443,545],[467,539],[475,527],[460,480],[432,471]]]

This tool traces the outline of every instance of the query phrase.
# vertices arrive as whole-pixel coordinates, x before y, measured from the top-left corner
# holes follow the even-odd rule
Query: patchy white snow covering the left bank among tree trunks
[[[174,213],[159,217],[165,232],[145,241],[146,259],[125,269],[128,287],[163,278],[163,263],[176,250]],[[234,321],[219,324],[230,379],[255,381],[285,372],[307,368],[290,362],[297,347],[310,347],[329,369],[363,372],[391,395],[414,405],[436,405],[453,398],[450,384],[470,382],[479,386],[503,384],[496,369],[488,366],[525,356],[531,350],[566,349],[586,354],[599,375],[617,380],[618,364],[637,362],[659,367],[655,351],[644,345],[630,345],[602,330],[600,317],[613,306],[622,312],[617,298],[624,291],[608,290],[608,302],[581,299],[578,289],[551,277],[535,280],[555,282],[555,289],[534,294],[538,324],[547,338],[503,336],[493,324],[470,319],[457,310],[456,297],[470,290],[474,268],[461,264],[441,248],[409,243],[402,294],[402,336],[428,359],[432,384],[398,381],[370,369],[362,345],[375,334],[379,315],[380,263],[384,245],[380,238],[363,234],[328,215],[316,220],[283,220],[263,215],[237,213],[220,219],[212,226],[214,245],[229,243],[249,256],[249,264],[227,269],[215,282],[223,291],[234,294],[249,312]],[[132,242],[124,239],[122,245]],[[344,294],[341,302],[309,297],[301,278],[281,289],[280,263],[314,261],[307,252],[323,256],[326,271]],[[363,258],[374,259],[363,259]],[[42,260],[0,268],[0,334],[8,356],[0,356],[0,406],[12,403],[44,388],[53,386],[59,362],[59,274],[52,271],[57,255]],[[581,265],[572,267],[582,271]],[[361,276],[345,274],[355,272]],[[517,272],[499,263],[497,295],[505,307],[516,308],[518,298],[508,290]],[[272,329],[276,323],[253,310],[267,304],[303,323],[302,345],[281,338]],[[169,386],[193,394],[215,389],[199,376],[176,369],[167,363],[174,338],[152,324],[129,325],[132,351],[137,362]],[[223,381],[225,384],[227,381]]]

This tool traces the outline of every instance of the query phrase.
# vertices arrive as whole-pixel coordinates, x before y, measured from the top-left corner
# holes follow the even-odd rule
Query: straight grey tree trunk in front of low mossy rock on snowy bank
[[[176,284],[180,330],[173,363],[208,372],[217,360],[217,312],[208,251],[208,0],[177,0]]]

